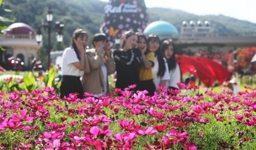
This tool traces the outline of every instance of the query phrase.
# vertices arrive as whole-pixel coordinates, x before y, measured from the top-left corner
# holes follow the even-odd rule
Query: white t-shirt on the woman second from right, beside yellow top
[[[160,76],[157,76],[157,72],[158,72],[158,69],[159,69],[159,63],[158,63],[158,59],[157,57],[155,57],[155,65],[154,65],[154,68],[153,68],[153,75],[154,75],[154,83],[155,83],[155,87],[157,88],[161,82],[161,80],[170,80],[170,76],[169,76],[169,69],[168,69],[168,65],[167,65],[167,62],[165,60],[165,58],[163,58],[164,61],[165,61],[165,74],[160,77]]]

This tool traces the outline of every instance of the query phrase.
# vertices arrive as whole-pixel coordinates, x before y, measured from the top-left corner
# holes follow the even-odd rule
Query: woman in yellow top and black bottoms
[[[147,38],[143,33],[137,32],[138,36],[138,48],[142,55],[143,64],[139,68],[139,83],[138,90],[147,90],[149,96],[153,96],[155,89],[155,84],[153,82],[153,67],[155,64],[155,56],[153,52],[150,52],[147,48]]]

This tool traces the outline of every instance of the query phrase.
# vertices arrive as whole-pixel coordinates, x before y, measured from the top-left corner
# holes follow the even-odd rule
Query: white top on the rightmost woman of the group
[[[177,83],[181,82],[181,76],[180,76],[180,67],[179,65],[176,63],[176,68],[174,70],[170,71],[170,80],[168,80],[166,82],[166,88],[168,87],[175,87],[175,88],[179,88]]]

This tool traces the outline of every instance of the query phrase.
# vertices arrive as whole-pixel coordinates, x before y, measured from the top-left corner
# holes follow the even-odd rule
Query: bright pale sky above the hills
[[[224,15],[256,23],[256,0],[144,0],[144,2],[148,8],[178,9],[195,15]]]

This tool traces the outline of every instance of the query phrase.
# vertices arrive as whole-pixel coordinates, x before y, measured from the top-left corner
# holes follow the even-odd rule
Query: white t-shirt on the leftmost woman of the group
[[[62,55],[62,75],[83,76],[84,71],[75,67],[75,62],[79,62],[74,49],[68,47]]]

